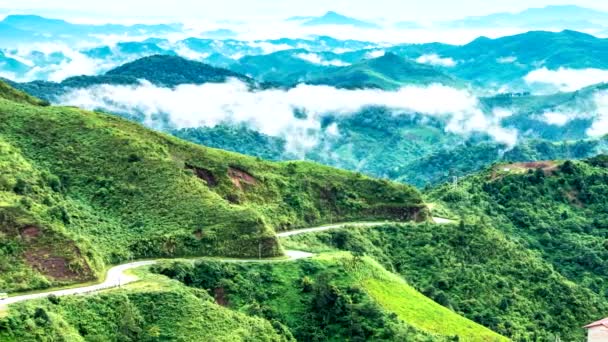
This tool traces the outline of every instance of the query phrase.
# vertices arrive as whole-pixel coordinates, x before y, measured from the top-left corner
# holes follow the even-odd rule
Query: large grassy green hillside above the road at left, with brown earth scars
[[[196,146],[114,116],[0,99],[0,288],[175,255],[273,256],[274,231],[424,220],[412,188]]]

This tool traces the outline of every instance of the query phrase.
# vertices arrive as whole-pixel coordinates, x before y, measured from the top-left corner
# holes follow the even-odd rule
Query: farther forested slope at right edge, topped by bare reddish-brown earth
[[[455,215],[491,216],[494,226],[538,251],[560,273],[605,296],[607,180],[605,156],[497,164],[455,189],[430,195]]]

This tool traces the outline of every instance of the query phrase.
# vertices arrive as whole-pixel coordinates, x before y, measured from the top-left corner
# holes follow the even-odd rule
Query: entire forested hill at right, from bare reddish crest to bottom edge
[[[285,242],[378,260],[416,289],[512,339],[584,339],[608,310],[608,157],[500,163],[426,192],[432,224],[320,232]]]

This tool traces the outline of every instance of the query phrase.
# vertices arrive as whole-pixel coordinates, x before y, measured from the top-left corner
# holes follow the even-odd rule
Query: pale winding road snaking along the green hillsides
[[[453,223],[454,221],[444,219],[444,218],[433,217],[433,222],[435,222],[437,224],[449,224],[449,223]],[[322,232],[322,231],[327,231],[327,230],[340,229],[340,228],[344,228],[344,227],[377,227],[377,226],[381,226],[381,225],[384,225],[387,223],[389,223],[389,222],[359,222],[359,223],[332,224],[332,225],[321,226],[321,227],[281,232],[281,233],[278,233],[277,236],[279,238],[290,237],[290,236],[301,235],[301,234],[316,233],[316,232]],[[290,260],[310,258],[314,254],[308,253],[308,252],[303,252],[303,251],[286,250],[285,255],[287,256],[287,259],[273,259],[273,260],[268,260],[268,259],[267,260],[216,259],[216,260],[225,261],[225,262],[277,262],[277,261],[290,261]],[[2,309],[3,307],[6,307],[9,304],[19,303],[19,302],[23,302],[23,301],[27,301],[27,300],[32,300],[32,299],[44,298],[44,297],[48,297],[50,295],[55,295],[58,297],[59,296],[69,296],[69,295],[76,295],[76,294],[86,294],[86,293],[98,292],[101,290],[107,290],[110,288],[120,287],[122,285],[126,285],[126,284],[129,284],[129,283],[132,283],[132,282],[138,280],[138,278],[134,275],[125,274],[125,271],[131,270],[134,268],[138,268],[138,267],[142,267],[142,266],[154,265],[154,264],[158,263],[159,261],[160,260],[135,261],[135,262],[130,262],[130,263],[114,266],[108,270],[105,280],[102,283],[99,283],[96,285],[74,287],[74,288],[69,288],[69,289],[24,294],[24,295],[9,297],[7,299],[0,300],[0,309]]]

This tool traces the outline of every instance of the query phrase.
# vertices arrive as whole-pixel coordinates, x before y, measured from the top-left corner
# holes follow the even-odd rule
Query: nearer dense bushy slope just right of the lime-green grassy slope
[[[437,303],[517,341],[580,339],[580,327],[608,310],[602,296],[481,222],[344,229],[290,237],[285,246],[366,254]],[[372,284],[391,293],[384,281]],[[399,300],[384,302],[412,314]]]

